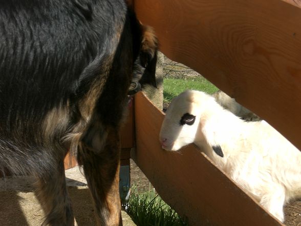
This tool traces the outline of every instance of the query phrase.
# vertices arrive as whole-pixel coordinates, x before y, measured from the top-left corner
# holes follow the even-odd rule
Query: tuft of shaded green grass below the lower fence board
[[[138,226],[188,225],[153,190],[138,193],[137,190],[132,189],[130,199],[123,204],[123,207]]]

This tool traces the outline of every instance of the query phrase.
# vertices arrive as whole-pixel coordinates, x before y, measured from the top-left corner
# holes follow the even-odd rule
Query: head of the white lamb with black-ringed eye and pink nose
[[[200,120],[206,116],[204,106],[214,98],[200,91],[187,90],[175,97],[167,111],[160,131],[162,148],[177,151],[193,143],[199,133]]]

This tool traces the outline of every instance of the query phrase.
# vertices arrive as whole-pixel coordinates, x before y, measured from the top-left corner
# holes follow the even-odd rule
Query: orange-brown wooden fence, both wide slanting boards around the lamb
[[[300,1],[131,2],[141,22],[154,27],[167,57],[201,73],[301,150]],[[162,112],[142,94],[135,98],[133,157],[189,225],[282,225],[195,146],[181,154],[163,151]]]

